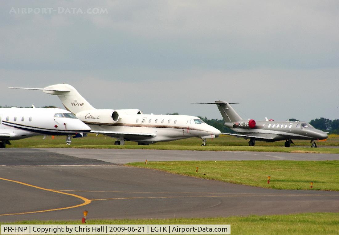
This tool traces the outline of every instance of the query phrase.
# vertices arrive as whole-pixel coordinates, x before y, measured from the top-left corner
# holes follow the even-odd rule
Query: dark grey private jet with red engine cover
[[[325,132],[314,128],[306,122],[274,121],[273,119],[267,120],[267,118],[266,121],[243,120],[230,103],[218,100],[207,104],[216,104],[225,121],[225,126],[238,133],[221,134],[250,139],[248,142],[250,146],[254,146],[256,140],[266,142],[286,140],[285,147],[290,147],[291,143],[294,144],[292,139],[296,139],[311,140],[311,147],[317,147],[315,140],[327,138]]]

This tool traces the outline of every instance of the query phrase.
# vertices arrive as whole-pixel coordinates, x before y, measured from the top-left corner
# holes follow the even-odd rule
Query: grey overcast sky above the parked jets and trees
[[[240,102],[233,107],[244,119],[339,119],[337,0],[3,1],[0,8],[3,106],[62,107],[56,96],[7,87],[67,83],[95,108],[221,119],[215,105],[190,102],[224,100]]]

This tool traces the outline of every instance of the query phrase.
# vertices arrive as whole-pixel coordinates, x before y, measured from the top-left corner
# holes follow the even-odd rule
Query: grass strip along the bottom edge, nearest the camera
[[[90,211],[88,217],[90,217]],[[18,221],[5,224],[81,224],[77,221]],[[86,224],[229,224],[231,234],[339,234],[339,213],[302,213],[290,215],[250,215],[217,218],[177,219],[87,219]]]

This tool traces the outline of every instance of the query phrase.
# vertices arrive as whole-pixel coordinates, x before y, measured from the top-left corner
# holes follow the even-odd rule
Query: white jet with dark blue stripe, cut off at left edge
[[[69,111],[57,108],[0,108],[0,148],[36,135],[64,135],[67,144],[71,136],[82,137],[91,131]]]

